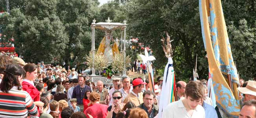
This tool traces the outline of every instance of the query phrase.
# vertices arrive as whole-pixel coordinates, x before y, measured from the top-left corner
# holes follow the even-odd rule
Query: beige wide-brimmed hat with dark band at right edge
[[[250,94],[256,96],[256,81],[248,81],[246,87],[237,88],[242,94]]]

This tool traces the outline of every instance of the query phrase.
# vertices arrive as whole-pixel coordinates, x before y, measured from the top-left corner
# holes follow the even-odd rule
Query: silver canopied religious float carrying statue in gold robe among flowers
[[[123,23],[112,22],[109,18],[106,22],[96,23],[96,20],[93,20],[91,24],[91,52],[86,57],[86,63],[92,72],[90,75],[92,82],[96,83],[101,80],[109,88],[113,77],[126,76],[126,67],[131,61],[131,58],[126,56],[126,26],[126,20]],[[98,50],[95,50],[95,29],[105,32]],[[117,29],[121,30],[120,40],[114,39],[112,34]]]

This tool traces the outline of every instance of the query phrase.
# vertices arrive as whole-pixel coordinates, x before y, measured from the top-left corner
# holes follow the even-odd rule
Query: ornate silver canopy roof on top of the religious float
[[[95,26],[96,29],[100,30],[115,30],[115,29],[124,29],[126,28],[126,20],[123,21],[123,23],[119,22],[112,22],[112,20],[109,19],[106,20],[106,22],[98,22],[96,23],[96,20],[93,20],[93,23],[91,24],[91,27]]]

